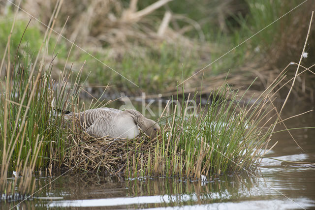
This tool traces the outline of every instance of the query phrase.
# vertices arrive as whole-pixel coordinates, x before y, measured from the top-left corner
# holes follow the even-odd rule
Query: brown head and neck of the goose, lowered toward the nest
[[[125,112],[131,115],[135,124],[137,124],[145,134],[152,139],[157,136],[160,127],[156,121],[147,119],[140,112],[133,109],[126,110]]]

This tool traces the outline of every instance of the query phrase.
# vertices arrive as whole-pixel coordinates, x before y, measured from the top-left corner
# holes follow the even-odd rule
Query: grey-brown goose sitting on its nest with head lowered
[[[136,110],[118,110],[113,108],[89,109],[80,113],[69,113],[64,115],[65,120],[78,120],[84,131],[97,138],[126,138],[133,139],[139,135],[141,130],[155,138],[160,130],[157,122],[145,118]]]

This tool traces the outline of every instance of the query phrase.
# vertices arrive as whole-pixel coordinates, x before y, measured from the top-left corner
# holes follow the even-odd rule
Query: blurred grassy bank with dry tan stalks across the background
[[[56,2],[22,0],[10,41],[11,58],[32,18],[18,53],[25,56],[27,52],[35,59]],[[106,85],[110,87],[104,97],[116,98],[121,91],[132,96],[141,92],[166,95],[205,66],[184,83],[185,91],[200,90],[202,83],[203,91],[210,92],[225,79],[233,88],[246,90],[255,77],[252,91],[259,91],[291,61],[299,61],[314,8],[313,0],[64,0],[45,60],[48,69],[58,54],[53,60],[55,79],[68,54],[66,70],[79,72],[86,60],[82,77],[88,77],[86,89],[95,97],[105,89],[98,86]],[[4,52],[15,10],[10,1],[0,0],[0,52]],[[314,29],[306,47],[308,58],[301,63],[305,67],[314,64]],[[63,37],[58,35],[61,32]],[[70,52],[71,42],[75,46]],[[0,70],[3,78],[5,67]],[[287,68],[288,79],[295,70],[296,65]],[[314,77],[312,72],[302,74],[293,96],[314,100]]]

